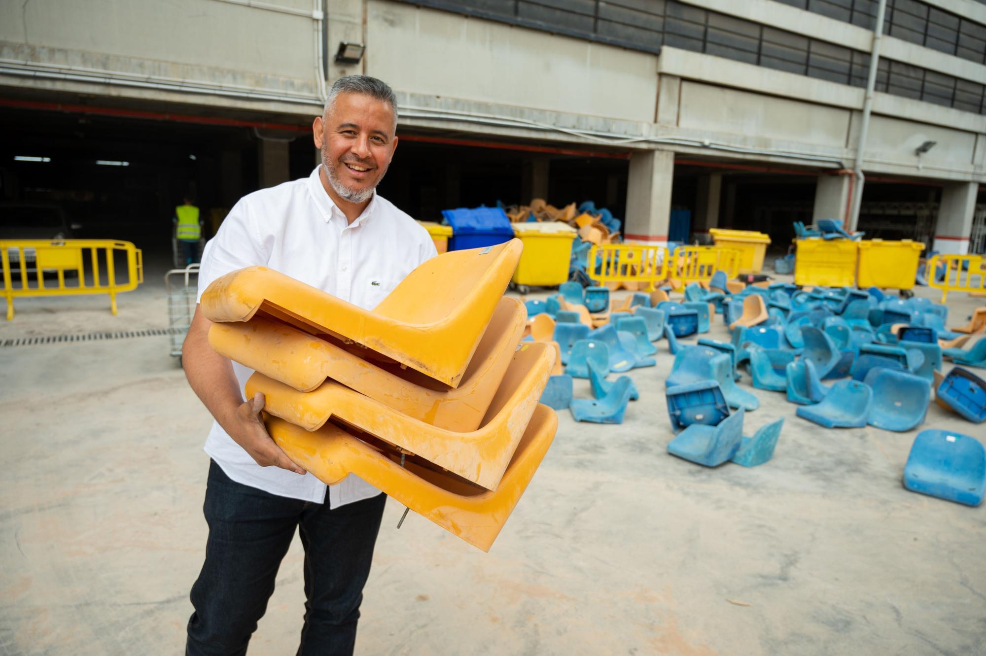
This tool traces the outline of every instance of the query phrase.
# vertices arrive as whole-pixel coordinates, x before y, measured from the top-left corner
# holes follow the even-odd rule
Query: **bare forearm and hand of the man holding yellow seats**
[[[259,392],[243,401],[232,363],[209,346],[212,322],[195,306],[191,326],[181,349],[181,364],[192,390],[212,416],[261,467],[280,467],[296,474],[305,470],[281,450],[260,419],[264,398]]]

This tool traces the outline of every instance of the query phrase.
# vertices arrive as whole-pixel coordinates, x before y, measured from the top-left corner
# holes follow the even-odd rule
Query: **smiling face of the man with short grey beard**
[[[397,147],[393,110],[363,94],[339,94],[313,130],[329,185],[343,200],[363,203],[384,179]]]

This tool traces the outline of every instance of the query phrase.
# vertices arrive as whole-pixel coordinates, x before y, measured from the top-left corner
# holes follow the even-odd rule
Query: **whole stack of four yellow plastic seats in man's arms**
[[[439,255],[365,310],[265,267],[202,295],[209,343],[255,370],[271,437],[325,484],[355,474],[488,551],[554,438],[556,348],[504,296],[520,239]]]

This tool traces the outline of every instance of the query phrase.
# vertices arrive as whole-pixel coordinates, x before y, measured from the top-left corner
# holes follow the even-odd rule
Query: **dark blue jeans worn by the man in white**
[[[298,656],[352,654],[386,501],[380,494],[329,509],[236,483],[211,462],[203,508],[209,540],[191,588],[185,654],[246,654],[295,527],[307,599]]]

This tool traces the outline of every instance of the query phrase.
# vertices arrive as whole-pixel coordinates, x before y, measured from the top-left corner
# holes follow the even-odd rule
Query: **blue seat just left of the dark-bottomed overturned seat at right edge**
[[[873,390],[870,426],[903,432],[924,423],[931,401],[931,384],[912,373],[878,367],[867,374]]]

